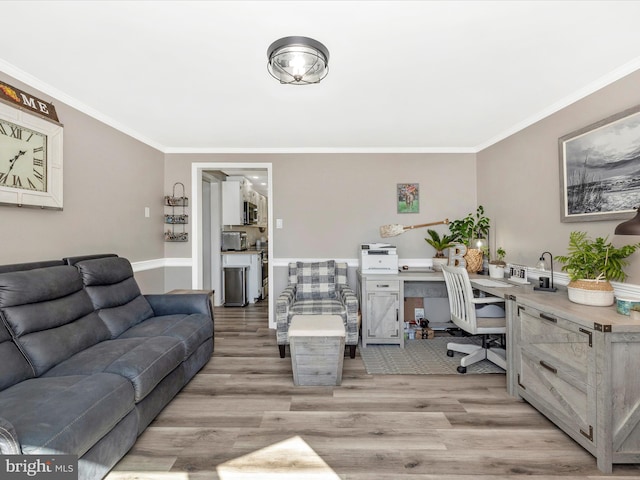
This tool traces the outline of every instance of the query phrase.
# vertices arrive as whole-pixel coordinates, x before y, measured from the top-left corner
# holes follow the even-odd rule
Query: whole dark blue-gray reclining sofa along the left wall
[[[142,295],[125,258],[0,266],[0,454],[103,478],[212,353],[208,296]]]

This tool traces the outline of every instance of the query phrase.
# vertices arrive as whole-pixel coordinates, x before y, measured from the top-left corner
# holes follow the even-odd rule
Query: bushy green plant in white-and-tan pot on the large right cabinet
[[[627,275],[625,259],[633,254],[640,243],[614,247],[608,237],[587,237],[586,232],[571,232],[567,255],[559,255],[562,271],[569,274],[569,300],[583,305],[607,306],[613,304],[610,281],[623,282]]]

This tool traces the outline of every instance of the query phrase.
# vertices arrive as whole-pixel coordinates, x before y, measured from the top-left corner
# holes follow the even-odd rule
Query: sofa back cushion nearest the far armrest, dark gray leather
[[[111,338],[153,317],[153,309],[140,293],[129,260],[104,257],[75,264],[93,307],[107,325]]]

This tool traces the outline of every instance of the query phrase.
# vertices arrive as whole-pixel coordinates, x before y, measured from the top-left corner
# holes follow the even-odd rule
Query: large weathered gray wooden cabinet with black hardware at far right
[[[507,349],[523,398],[596,457],[640,463],[640,325],[615,307],[587,307],[565,295],[511,299]]]

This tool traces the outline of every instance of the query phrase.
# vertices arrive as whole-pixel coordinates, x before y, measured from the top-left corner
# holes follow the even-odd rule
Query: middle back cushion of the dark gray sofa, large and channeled
[[[110,337],[66,265],[0,273],[0,316],[36,376]]]

